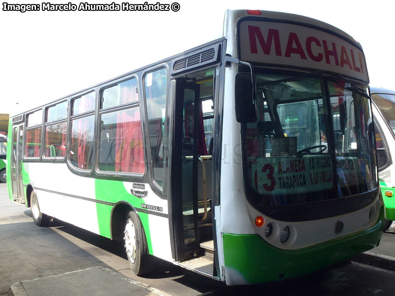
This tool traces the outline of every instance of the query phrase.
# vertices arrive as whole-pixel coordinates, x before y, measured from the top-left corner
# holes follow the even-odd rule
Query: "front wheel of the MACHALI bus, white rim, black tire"
[[[155,267],[155,260],[148,252],[143,227],[134,211],[126,214],[124,235],[127,259],[134,274],[143,275],[152,271]]]

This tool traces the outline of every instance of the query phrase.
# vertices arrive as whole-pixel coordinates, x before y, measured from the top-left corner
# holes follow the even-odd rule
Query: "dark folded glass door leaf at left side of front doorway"
[[[199,244],[197,206],[199,84],[176,79],[174,134],[171,169],[171,207],[175,259],[196,256]],[[204,135],[204,131],[203,131]]]

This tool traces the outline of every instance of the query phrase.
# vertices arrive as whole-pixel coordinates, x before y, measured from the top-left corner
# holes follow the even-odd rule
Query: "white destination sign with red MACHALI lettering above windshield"
[[[369,81],[362,50],[337,35],[267,21],[245,20],[239,28],[243,61],[324,70]]]

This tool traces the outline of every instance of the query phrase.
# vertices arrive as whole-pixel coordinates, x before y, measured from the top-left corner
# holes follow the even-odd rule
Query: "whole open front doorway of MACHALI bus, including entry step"
[[[213,138],[205,134],[212,129],[213,116],[207,110],[213,111],[213,72],[188,74],[172,84],[175,105],[169,207],[173,258],[179,265],[218,279],[211,209],[213,161],[206,143]]]

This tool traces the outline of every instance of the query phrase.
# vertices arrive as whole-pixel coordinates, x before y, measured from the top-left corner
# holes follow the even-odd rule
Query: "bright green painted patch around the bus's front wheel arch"
[[[96,191],[96,199],[108,201],[112,203],[118,203],[120,201],[125,201],[130,203],[135,208],[141,208],[141,204],[144,201],[141,198],[135,197],[133,194],[128,192],[121,181],[113,181],[113,180],[101,180],[95,179],[95,191]],[[97,210],[97,220],[99,226],[99,233],[102,236],[111,237],[111,211],[113,206],[104,205],[100,203],[96,203]],[[152,242],[151,242],[151,231],[150,231],[150,222],[148,219],[148,214],[138,213],[140,220],[143,224],[143,228],[147,237],[148,250],[151,255],[153,254]],[[124,225],[119,225],[119,227],[123,227]]]

